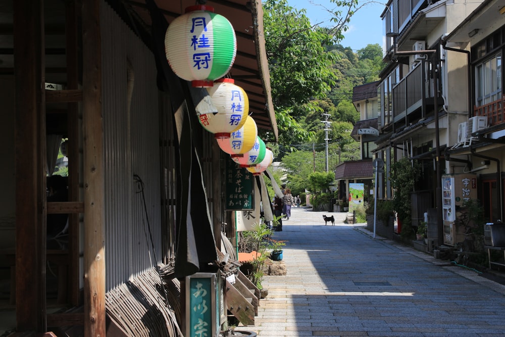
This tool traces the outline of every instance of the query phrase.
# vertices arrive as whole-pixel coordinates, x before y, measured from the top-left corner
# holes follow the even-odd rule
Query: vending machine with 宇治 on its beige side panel
[[[456,211],[463,202],[477,198],[477,175],[472,173],[442,175],[443,243],[455,246],[465,239],[455,226]]]

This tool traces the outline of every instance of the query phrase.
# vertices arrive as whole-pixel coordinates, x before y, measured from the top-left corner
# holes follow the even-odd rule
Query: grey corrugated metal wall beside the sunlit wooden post
[[[155,265],[151,237],[157,262],[162,258],[159,94],[153,55],[108,5],[102,6],[106,287],[110,290]]]

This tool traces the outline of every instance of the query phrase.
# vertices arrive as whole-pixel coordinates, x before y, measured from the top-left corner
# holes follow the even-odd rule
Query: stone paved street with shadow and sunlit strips
[[[325,226],[322,215],[333,215]],[[259,336],[505,336],[505,286],[377,236],[346,213],[293,208],[286,276],[265,276]]]

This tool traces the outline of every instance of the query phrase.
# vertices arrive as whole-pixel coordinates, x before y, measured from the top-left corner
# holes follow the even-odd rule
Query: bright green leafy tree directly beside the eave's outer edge
[[[336,80],[336,55],[325,52],[333,36],[311,25],[305,10],[287,0],[267,0],[264,7],[265,46],[272,99],[281,143],[311,140],[298,119],[314,111],[311,101],[324,99]]]

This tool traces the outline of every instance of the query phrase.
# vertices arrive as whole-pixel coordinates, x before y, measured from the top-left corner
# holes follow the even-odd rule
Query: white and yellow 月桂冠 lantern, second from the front
[[[242,127],[249,114],[249,99],[244,89],[231,78],[222,78],[207,88],[217,113],[199,113],[198,120],[216,138],[229,138]]]

